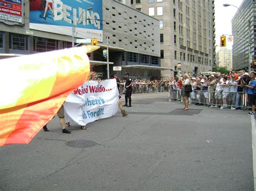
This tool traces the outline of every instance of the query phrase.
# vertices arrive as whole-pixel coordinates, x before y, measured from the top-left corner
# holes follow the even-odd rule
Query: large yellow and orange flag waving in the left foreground
[[[84,46],[0,60],[0,146],[28,144],[65,98],[87,81]]]

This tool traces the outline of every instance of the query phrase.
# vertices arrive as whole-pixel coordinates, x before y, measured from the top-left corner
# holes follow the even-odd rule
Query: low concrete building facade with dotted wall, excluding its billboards
[[[24,5],[23,23],[6,22],[0,18],[0,58],[54,51],[72,46],[72,30],[70,34],[63,35],[57,31],[31,29],[30,1],[21,2]],[[43,10],[41,13],[43,15]],[[103,25],[103,41],[98,43],[101,48],[89,55],[91,68],[98,72],[99,77],[107,76],[106,59],[103,56],[103,49],[107,46],[109,46],[110,74],[113,72],[112,66],[123,67],[119,75],[130,72],[131,76],[147,78],[159,77],[163,69],[170,70],[160,66],[160,30],[156,18],[113,0],[102,1],[102,13],[103,18],[98,20],[100,25]],[[93,20],[89,20],[90,22]],[[80,33],[80,35],[86,38],[86,34]]]

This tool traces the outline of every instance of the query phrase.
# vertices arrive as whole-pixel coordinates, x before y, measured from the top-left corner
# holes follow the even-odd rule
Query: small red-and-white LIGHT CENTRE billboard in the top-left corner
[[[24,24],[23,0],[0,0],[0,20],[6,24]]]

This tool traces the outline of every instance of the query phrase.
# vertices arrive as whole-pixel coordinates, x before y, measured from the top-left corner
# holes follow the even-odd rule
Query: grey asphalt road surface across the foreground
[[[0,147],[0,190],[253,190],[251,117],[133,95],[120,113],[63,134],[58,117],[29,145]],[[87,148],[67,146],[92,140]]]

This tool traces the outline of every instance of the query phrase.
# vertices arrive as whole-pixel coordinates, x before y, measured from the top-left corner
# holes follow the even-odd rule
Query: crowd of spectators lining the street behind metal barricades
[[[178,77],[163,77],[158,80],[133,79],[133,93],[156,93],[170,91],[170,101],[180,101],[181,79]],[[120,87],[124,84],[121,81]],[[205,105],[220,109],[239,110],[248,105],[246,95],[250,82],[250,74],[241,70],[232,70],[229,74],[190,75],[193,92],[190,94],[190,104]]]

